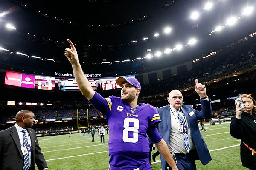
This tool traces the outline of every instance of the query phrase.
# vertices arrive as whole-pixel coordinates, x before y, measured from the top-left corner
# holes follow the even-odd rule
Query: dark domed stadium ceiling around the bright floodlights
[[[255,0],[1,0],[0,46],[28,55],[66,60],[67,38],[76,44],[83,62],[113,62],[145,57],[164,48],[186,45],[195,37],[194,46],[172,51],[176,62],[186,62],[209,54],[256,31],[255,8],[251,16],[241,16],[245,6]],[[190,14],[198,11],[197,20]],[[1,15],[2,14],[2,15]],[[235,26],[209,35],[224,26],[227,17],[239,17]],[[12,23],[16,30],[6,30]],[[163,29],[172,31],[166,35]],[[154,37],[155,33],[158,37]],[[142,40],[147,37],[147,40]],[[132,43],[131,41],[137,42]],[[172,58],[168,58],[172,59]],[[40,61],[39,61],[40,62]]]

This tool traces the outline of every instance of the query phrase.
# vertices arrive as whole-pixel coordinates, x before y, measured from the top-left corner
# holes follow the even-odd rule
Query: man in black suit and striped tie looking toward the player
[[[0,170],[48,170],[38,144],[32,111],[21,110],[16,114],[16,124],[0,131]],[[24,163],[24,160],[26,163]]]

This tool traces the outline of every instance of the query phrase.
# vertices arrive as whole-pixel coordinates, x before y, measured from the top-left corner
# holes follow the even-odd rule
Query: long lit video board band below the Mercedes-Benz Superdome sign
[[[125,79],[128,77],[135,78],[135,75],[122,76]],[[116,79],[119,77],[106,77],[106,78],[91,78],[88,79],[90,86],[93,90],[111,90],[121,88],[116,84]],[[75,78],[61,78],[49,77],[32,74],[22,74],[12,71],[6,71],[5,82],[6,85],[13,85],[23,88],[36,88],[40,90],[59,90],[60,91],[79,91]]]

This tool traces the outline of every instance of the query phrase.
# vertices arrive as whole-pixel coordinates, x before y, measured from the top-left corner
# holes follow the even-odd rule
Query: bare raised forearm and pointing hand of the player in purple
[[[95,91],[90,86],[88,79],[84,75],[74,44],[70,41],[70,39],[67,39],[67,41],[70,43],[71,48],[66,48],[64,55],[72,65],[73,73],[80,91],[88,100],[90,100],[93,98]]]

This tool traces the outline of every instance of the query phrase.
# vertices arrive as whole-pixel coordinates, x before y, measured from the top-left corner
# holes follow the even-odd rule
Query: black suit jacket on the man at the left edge
[[[38,144],[35,130],[27,128],[32,145],[31,169],[35,170],[35,164],[39,170],[47,167],[44,155]],[[17,129],[12,126],[0,131],[0,170],[22,170],[23,154]]]

